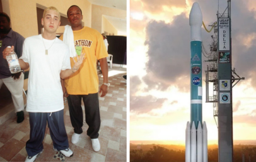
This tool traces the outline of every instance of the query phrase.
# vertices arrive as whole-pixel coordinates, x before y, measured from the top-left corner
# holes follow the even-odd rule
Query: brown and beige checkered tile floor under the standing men
[[[122,75],[126,74],[126,68],[109,68],[110,87],[105,97],[100,97],[100,144],[98,152],[93,151],[91,140],[86,135],[87,124],[83,126],[83,134],[77,144],[71,143],[73,127],[69,118],[69,109],[66,104],[64,108],[64,122],[67,136],[69,138],[69,148],[74,152],[71,158],[65,161],[126,161],[126,82]],[[103,78],[99,75],[100,85]],[[6,118],[6,114],[13,110],[11,100],[0,99],[0,124],[1,118]],[[82,103],[83,107],[83,103]],[[9,111],[6,111],[8,109]],[[0,161],[25,161],[27,156],[25,144],[29,139],[30,124],[28,112],[25,111],[25,121],[21,124],[16,123],[16,117],[11,112],[11,118],[0,125]],[[45,132],[44,152],[37,157],[36,161],[60,161],[55,159],[55,151],[52,149],[52,139],[49,129]]]

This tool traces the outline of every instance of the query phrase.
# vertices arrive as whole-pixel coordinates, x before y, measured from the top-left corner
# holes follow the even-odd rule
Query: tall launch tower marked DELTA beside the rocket
[[[214,35],[210,53],[204,45],[202,53],[207,58],[206,102],[213,103],[213,116],[218,127],[219,162],[233,161],[233,99],[232,89],[244,77],[240,77],[231,60],[231,0],[223,13],[217,12],[218,23],[214,22]],[[212,94],[209,96],[209,84]],[[218,122],[217,122],[218,121]]]

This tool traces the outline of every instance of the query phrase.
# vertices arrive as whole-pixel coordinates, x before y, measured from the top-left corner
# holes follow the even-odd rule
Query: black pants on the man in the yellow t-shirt
[[[69,104],[69,115],[74,132],[81,134],[83,132],[83,110],[81,107],[81,99],[84,102],[85,119],[89,128],[87,135],[91,139],[98,138],[100,130],[100,108],[98,104],[98,93],[88,95],[69,95],[67,103]]]

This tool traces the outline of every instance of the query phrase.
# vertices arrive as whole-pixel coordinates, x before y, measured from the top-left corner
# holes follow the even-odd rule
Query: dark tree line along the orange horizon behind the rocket
[[[235,145],[233,161],[241,162],[242,154],[245,154],[245,161],[256,161],[255,145]],[[130,144],[131,162],[161,162],[161,161],[185,161],[185,146],[146,144],[137,147],[137,144]],[[208,161],[218,161],[218,146],[208,146]]]

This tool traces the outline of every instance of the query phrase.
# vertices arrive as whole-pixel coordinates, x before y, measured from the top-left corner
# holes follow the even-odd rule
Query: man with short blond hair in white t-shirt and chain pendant
[[[55,36],[61,24],[60,19],[56,8],[45,9],[42,18],[44,33],[26,38],[19,59],[21,69],[30,67],[26,105],[30,117],[30,139],[26,142],[26,161],[35,161],[37,155],[44,150],[42,142],[47,122],[54,150],[61,151],[67,157],[73,156],[64,126],[61,78],[76,72],[83,63],[84,55],[78,58],[78,62],[74,61],[71,69],[69,48]],[[6,48],[3,57],[6,58],[10,51]]]

